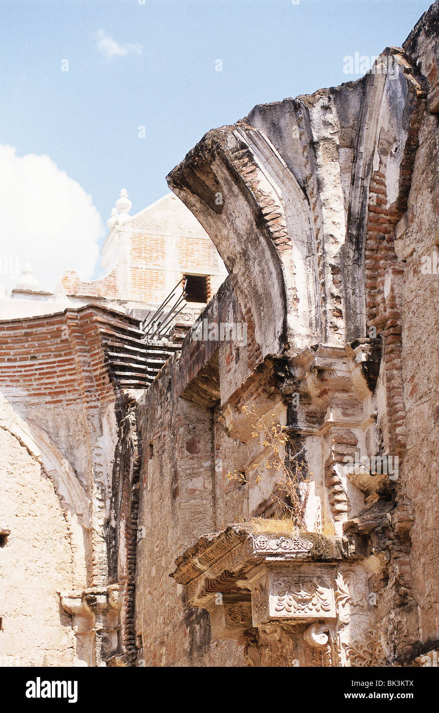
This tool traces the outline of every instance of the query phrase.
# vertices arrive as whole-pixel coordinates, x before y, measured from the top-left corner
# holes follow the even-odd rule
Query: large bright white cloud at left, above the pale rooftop
[[[48,291],[65,270],[93,277],[104,235],[100,214],[47,155],[20,158],[12,146],[0,145],[0,216],[0,284],[15,287],[17,267],[26,262]]]

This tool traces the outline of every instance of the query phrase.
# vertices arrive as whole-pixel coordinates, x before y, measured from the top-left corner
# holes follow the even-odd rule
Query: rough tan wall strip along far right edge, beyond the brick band
[[[439,545],[438,26],[439,4],[436,2],[404,43],[406,54],[416,58],[427,95],[408,210],[396,232],[396,253],[404,264],[402,364],[407,446],[403,487],[413,518],[406,577],[418,615],[416,624],[410,623],[413,630],[410,653],[437,650],[439,640],[439,565],[435,555]],[[396,637],[401,637],[401,630],[396,632]]]

